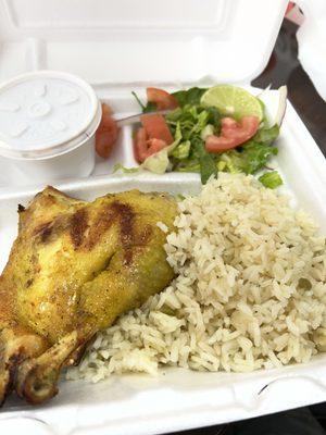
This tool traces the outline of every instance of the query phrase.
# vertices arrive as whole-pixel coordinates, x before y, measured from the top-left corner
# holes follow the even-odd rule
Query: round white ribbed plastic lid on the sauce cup
[[[76,76],[54,71],[17,76],[0,86],[0,154],[63,152],[93,130],[98,110],[93,89]]]

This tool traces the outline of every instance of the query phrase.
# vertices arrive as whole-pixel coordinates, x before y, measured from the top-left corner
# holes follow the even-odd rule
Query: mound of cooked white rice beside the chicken
[[[165,250],[178,276],[99,333],[67,378],[164,364],[247,372],[326,350],[325,238],[287,198],[221,174],[179,202],[175,226]]]

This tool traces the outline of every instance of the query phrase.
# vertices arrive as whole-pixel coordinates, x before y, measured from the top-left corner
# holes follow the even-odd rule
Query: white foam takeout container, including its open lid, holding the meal
[[[117,116],[128,115],[138,109],[130,90],[143,96],[147,83],[166,89],[178,87],[176,82],[248,83],[268,59],[286,3],[206,0],[203,9],[203,2],[197,0],[167,0],[161,10],[159,0],[142,0],[137,7],[133,0],[114,5],[98,0],[96,9],[88,0],[79,0],[78,8],[63,0],[49,1],[47,8],[41,7],[42,0],[29,0],[28,7],[24,0],[2,0],[0,74],[8,78],[27,67],[65,69],[96,84],[98,96],[110,101]],[[222,53],[225,63],[217,62],[217,54],[212,60],[212,52]],[[137,59],[141,61],[137,63]],[[276,91],[264,94],[271,116],[277,100]],[[326,233],[326,161],[291,104],[277,146],[273,165],[285,179],[283,190],[290,195],[293,207],[310,211]],[[197,174],[112,175],[117,162],[126,166],[136,163],[131,126],[123,127],[109,161],[98,159],[91,177],[63,181],[55,187],[86,200],[134,187],[175,194],[200,188]],[[4,183],[0,188],[0,270],[16,234],[17,203],[26,204],[42,187],[22,189]],[[96,385],[63,381],[60,395],[41,407],[32,408],[11,397],[0,411],[0,433],[23,428],[33,435],[163,434],[324,400],[326,355],[306,364],[246,374],[164,369],[156,377],[112,376]]]

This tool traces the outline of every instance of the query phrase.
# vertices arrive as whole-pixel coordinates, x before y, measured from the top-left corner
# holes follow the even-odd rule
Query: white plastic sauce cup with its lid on
[[[95,90],[72,74],[39,71],[3,83],[1,178],[25,185],[88,176],[100,120]]]

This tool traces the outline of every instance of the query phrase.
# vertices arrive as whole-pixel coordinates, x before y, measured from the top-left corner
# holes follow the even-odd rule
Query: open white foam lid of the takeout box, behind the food
[[[63,70],[91,84],[249,83],[287,0],[0,0],[0,80]]]

